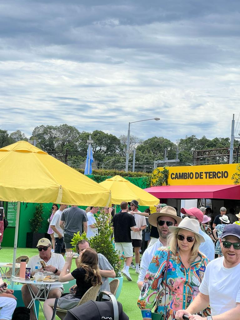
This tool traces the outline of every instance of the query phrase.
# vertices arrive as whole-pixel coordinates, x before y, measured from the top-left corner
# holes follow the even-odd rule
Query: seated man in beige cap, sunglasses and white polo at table
[[[32,258],[29,259],[28,261],[28,268],[31,268],[31,276],[35,274],[35,272],[44,272],[47,271],[47,275],[56,275],[59,276],[61,273],[61,270],[65,264],[65,260],[63,256],[59,253],[53,253],[51,252],[52,246],[50,240],[47,238],[42,238],[38,241],[37,243],[37,249],[39,254],[36,256],[33,256]],[[36,264],[43,260],[46,264],[46,268],[44,270],[41,268],[40,270],[35,271],[35,266]],[[40,286],[38,285],[31,285],[31,290],[37,294]],[[25,307],[28,307],[29,303],[32,300],[31,294],[29,292],[27,284],[24,284],[22,286],[22,300],[24,302]],[[51,298],[59,298],[61,294],[63,293],[63,285],[59,284],[52,284],[49,294],[48,294],[48,299]],[[30,320],[35,320],[36,316],[34,313],[34,308],[33,306],[30,309]]]

